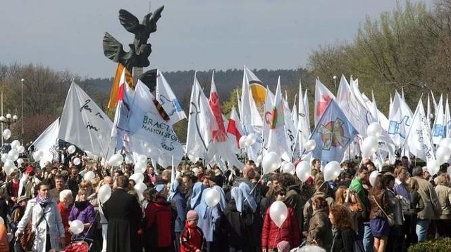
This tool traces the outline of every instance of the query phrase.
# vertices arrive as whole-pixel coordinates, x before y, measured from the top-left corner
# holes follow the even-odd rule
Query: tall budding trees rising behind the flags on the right
[[[390,93],[404,89],[411,107],[428,89],[448,88],[451,60],[449,23],[451,2],[428,11],[423,2],[398,3],[379,18],[366,18],[352,41],[321,46],[309,55],[315,76],[333,90],[333,79],[345,74],[359,79],[367,96],[374,91],[379,109],[388,113]],[[448,27],[448,33],[446,33]],[[439,39],[440,38],[440,39]]]

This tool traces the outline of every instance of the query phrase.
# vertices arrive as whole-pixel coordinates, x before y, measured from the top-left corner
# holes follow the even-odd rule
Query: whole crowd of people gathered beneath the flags
[[[321,169],[314,159],[301,182],[290,173],[262,174],[253,161],[227,170],[183,162],[171,181],[171,167],[149,162],[140,194],[132,164],[24,164],[1,173],[0,251],[60,251],[75,239],[108,252],[407,251],[451,236],[447,166],[432,176],[407,157],[381,171],[370,160],[345,161],[334,181],[324,181]],[[95,178],[84,180],[87,171]],[[102,185],[112,190],[104,204]],[[207,204],[209,190],[220,195],[216,206]],[[277,201],[287,209],[283,223],[270,211]],[[83,223],[80,234],[70,229],[75,220]]]

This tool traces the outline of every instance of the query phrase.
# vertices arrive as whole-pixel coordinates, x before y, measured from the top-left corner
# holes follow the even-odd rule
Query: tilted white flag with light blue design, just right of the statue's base
[[[169,86],[168,81],[163,74],[157,70],[156,72],[156,100],[163,107],[163,110],[168,114],[168,124],[175,124],[176,122],[186,119],[185,111],[183,111],[180,102],[175,97],[174,92]]]

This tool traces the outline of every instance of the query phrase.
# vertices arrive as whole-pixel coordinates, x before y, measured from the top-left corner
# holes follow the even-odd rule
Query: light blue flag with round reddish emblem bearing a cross
[[[330,100],[310,136],[316,142],[313,157],[321,159],[323,165],[342,161],[347,146],[357,133],[335,100]]]

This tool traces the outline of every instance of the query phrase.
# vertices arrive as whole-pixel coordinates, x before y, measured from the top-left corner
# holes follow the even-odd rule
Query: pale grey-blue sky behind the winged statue
[[[366,16],[377,18],[398,1],[4,0],[0,63],[68,69],[82,78],[113,77],[116,63],[104,56],[104,33],[124,48],[133,40],[119,23],[119,9],[142,20],[149,9],[164,5],[149,39],[149,69],[297,69],[307,67],[312,50],[351,41]],[[431,7],[433,0],[425,2]]]

